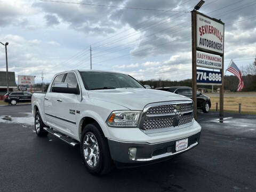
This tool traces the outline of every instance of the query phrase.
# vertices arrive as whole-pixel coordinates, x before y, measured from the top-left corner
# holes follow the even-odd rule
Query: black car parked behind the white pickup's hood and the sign
[[[180,94],[192,99],[192,89],[187,86],[172,86],[172,87],[160,87],[156,90],[169,91],[172,93]],[[197,93],[197,109],[202,109],[204,113],[208,113],[211,108],[211,100],[201,92]]]

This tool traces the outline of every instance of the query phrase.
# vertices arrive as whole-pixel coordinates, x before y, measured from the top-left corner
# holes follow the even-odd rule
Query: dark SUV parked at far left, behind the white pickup
[[[4,102],[10,103],[11,105],[16,105],[17,102],[29,102],[31,101],[31,95],[29,92],[8,92],[4,95]]]

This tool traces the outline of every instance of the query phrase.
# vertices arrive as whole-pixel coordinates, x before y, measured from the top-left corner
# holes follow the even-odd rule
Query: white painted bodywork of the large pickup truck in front
[[[35,116],[35,109],[37,107],[46,125],[77,141],[81,139],[82,123],[85,117],[93,118],[100,125],[106,138],[124,142],[158,143],[188,137],[201,131],[201,126],[195,120],[193,120],[191,125],[183,129],[153,134],[145,134],[138,127],[109,127],[106,124],[106,120],[112,111],[142,111],[149,103],[180,100],[191,101],[191,99],[170,92],[138,88],[87,91],[83,85],[79,71],[66,71],[65,73],[76,74],[81,93],[75,95],[50,92],[52,81],[46,94],[33,94],[31,100],[32,113]],[[48,100],[45,100],[45,98]],[[58,102],[57,99],[61,99],[62,102]],[[72,115],[69,113],[69,109],[78,110],[80,113]],[[71,122],[75,122],[75,124],[50,117],[45,115],[45,113],[65,118]]]

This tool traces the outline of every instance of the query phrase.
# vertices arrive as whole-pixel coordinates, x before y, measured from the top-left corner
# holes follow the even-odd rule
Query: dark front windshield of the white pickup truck
[[[142,88],[139,82],[125,74],[100,72],[100,71],[80,71],[86,90],[116,89],[116,88]]]

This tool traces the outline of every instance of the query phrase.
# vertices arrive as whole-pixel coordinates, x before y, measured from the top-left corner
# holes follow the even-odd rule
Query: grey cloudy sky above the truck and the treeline
[[[62,0],[60,0],[62,1]],[[63,0],[135,10],[39,0],[0,0],[0,42],[9,71],[41,82],[64,70],[120,71],[137,79],[191,78],[191,14],[198,0]],[[201,12],[225,22],[225,69],[256,55],[255,0],[205,0]],[[5,71],[4,46],[0,70]]]

